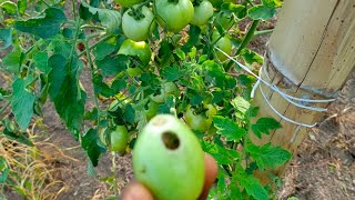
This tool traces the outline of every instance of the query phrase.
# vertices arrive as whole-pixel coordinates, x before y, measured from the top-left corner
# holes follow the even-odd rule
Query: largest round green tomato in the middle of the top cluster
[[[179,32],[185,28],[193,18],[193,4],[190,0],[155,0],[158,21],[168,30]]]

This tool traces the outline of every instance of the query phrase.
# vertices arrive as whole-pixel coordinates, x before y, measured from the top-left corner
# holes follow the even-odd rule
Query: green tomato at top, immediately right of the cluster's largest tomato
[[[213,6],[210,1],[203,0],[199,6],[194,7],[193,19],[191,24],[203,26],[209,22],[213,16]]]

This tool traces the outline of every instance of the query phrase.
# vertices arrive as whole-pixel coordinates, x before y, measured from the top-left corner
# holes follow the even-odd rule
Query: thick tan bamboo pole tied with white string
[[[308,99],[335,98],[355,68],[355,0],[285,0],[267,44],[264,80],[283,92]],[[260,86],[270,103],[294,121],[312,124],[322,112],[297,108],[265,84]],[[272,142],[295,153],[307,129],[281,119],[263,98],[255,93],[258,117],[273,117],[283,128],[251,136],[253,142]],[[328,103],[312,103],[327,108]],[[275,171],[282,173],[283,169]]]

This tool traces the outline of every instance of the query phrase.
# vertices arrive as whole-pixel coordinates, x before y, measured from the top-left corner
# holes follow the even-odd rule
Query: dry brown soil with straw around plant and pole
[[[273,28],[274,22],[264,23]],[[246,26],[247,27],[247,26]],[[268,34],[256,37],[250,48],[263,54]],[[0,80],[2,78],[0,77]],[[90,72],[84,70],[82,83],[89,96],[88,108],[92,107]],[[3,82],[0,81],[0,86]],[[318,129],[310,130],[297,154],[292,160],[285,174],[277,199],[296,197],[310,200],[351,200],[355,197],[355,73],[348,80],[342,94],[329,107]],[[50,141],[75,160],[55,154],[51,149],[43,149],[55,162],[60,173],[58,178],[65,182],[65,191],[58,199],[104,199],[120,194],[122,188],[133,178],[131,156],[115,157],[115,172],[112,172],[112,156],[105,156],[95,168],[95,173],[88,173],[88,158],[80,143],[65,130],[51,102],[43,108],[43,124]],[[105,178],[115,176],[118,188],[111,188]],[[23,199],[13,192],[6,193],[8,199]]]

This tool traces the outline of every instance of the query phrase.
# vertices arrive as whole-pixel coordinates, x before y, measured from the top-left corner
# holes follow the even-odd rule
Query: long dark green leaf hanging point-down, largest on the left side
[[[85,92],[79,86],[79,62],[77,58],[67,60],[60,54],[54,54],[48,60],[48,66],[52,68],[49,76],[49,94],[57,112],[77,139],[87,100]]]

